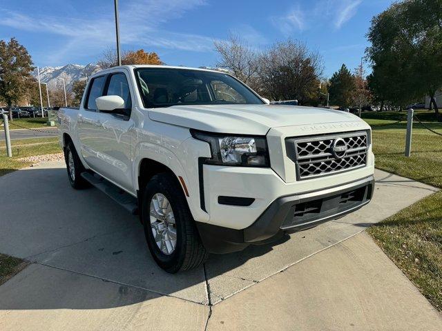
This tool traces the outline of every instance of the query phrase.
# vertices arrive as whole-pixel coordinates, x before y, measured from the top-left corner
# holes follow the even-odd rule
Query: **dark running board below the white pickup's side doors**
[[[99,176],[99,174],[91,174],[90,172],[81,172],[81,177],[86,179],[91,185],[95,186],[95,188],[104,192],[104,194],[111,197],[115,202],[122,205],[124,209],[128,210],[133,215],[138,214],[138,203],[137,198],[133,197],[131,194],[128,194],[125,190],[118,188],[116,185],[111,183],[110,181],[104,179]]]

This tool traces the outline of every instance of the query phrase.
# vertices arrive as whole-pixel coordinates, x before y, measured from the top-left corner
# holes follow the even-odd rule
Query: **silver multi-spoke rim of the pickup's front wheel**
[[[155,243],[164,254],[172,254],[177,245],[177,230],[171,203],[164,194],[157,193],[152,197],[150,216]]]

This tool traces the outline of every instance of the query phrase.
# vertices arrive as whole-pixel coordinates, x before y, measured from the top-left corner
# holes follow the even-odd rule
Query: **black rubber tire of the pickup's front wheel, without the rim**
[[[169,200],[175,217],[177,243],[175,251],[170,255],[166,255],[160,250],[157,243],[155,243],[151,229],[151,200],[157,193],[164,194]],[[186,252],[186,240],[184,237],[186,234],[186,225],[184,217],[187,217],[188,215],[186,215],[186,205],[183,205],[182,199],[180,199],[184,199],[184,197],[179,197],[178,194],[181,194],[180,188],[177,188],[177,185],[175,185],[171,176],[169,174],[158,174],[148,182],[142,197],[142,222],[149,250],[151,251],[155,262],[167,272],[172,273],[180,270],[184,263]]]

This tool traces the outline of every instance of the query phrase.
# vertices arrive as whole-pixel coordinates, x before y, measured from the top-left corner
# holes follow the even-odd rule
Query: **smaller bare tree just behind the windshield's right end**
[[[258,52],[237,34],[230,34],[227,41],[213,43],[220,54],[217,66],[231,71],[236,78],[253,88],[259,71]]]

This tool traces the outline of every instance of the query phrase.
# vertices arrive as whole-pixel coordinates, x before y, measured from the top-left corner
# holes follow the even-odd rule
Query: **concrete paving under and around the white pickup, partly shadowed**
[[[0,330],[442,330],[360,233],[436,188],[379,170],[376,181],[354,214],[171,275],[137,217],[98,190],[70,188],[63,163],[8,174],[0,252],[34,263],[0,287]]]

